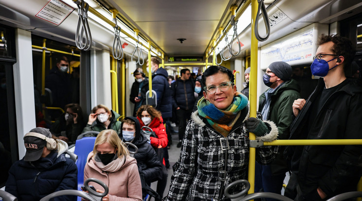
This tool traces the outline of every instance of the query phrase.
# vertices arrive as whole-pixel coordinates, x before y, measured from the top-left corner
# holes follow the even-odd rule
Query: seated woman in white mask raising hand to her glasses
[[[121,122],[117,119],[121,117],[113,110],[109,110],[106,105],[99,104],[92,109],[92,113],[89,115],[87,126],[83,129],[82,133],[88,131],[103,131],[106,129],[112,129],[121,133]],[[95,125],[92,125],[96,121]]]

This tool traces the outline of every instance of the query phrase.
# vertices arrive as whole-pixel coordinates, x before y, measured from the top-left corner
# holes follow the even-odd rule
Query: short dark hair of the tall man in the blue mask
[[[353,47],[351,40],[337,34],[322,34],[319,37],[318,45],[322,45],[330,41],[334,43],[331,50],[338,56],[344,56],[344,67],[349,67],[356,53],[356,50]]]

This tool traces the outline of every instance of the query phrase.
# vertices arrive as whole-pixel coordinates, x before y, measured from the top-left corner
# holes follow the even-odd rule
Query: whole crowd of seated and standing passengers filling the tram
[[[310,67],[311,73],[321,78],[309,97],[298,84],[304,82],[303,69],[293,72],[289,64],[273,62],[263,75],[269,88],[259,97],[256,118],[249,117],[250,68],[245,71],[246,82],[240,93],[233,72],[226,67],[211,66],[193,77],[190,70],[182,69],[180,78],[173,80],[152,57],[157,106],[146,105],[148,78],[141,68],[133,73],[133,117],[118,121],[119,114],[100,104],[92,109],[85,124],[80,106],[67,104],[66,112],[50,130],[39,127],[25,134],[26,154],[10,168],[5,190],[19,201],[38,201],[55,191],[76,190],[77,167],[65,157],[67,142],[75,142],[81,133],[97,131],[100,133],[87,157],[84,180],[97,178],[107,184],[109,193],[103,201],[141,201],[147,194],[156,201],[228,201],[225,187],[248,178],[249,133],[265,142],[362,138],[358,132],[362,130],[362,87],[353,79],[359,74],[359,67],[352,64],[354,54],[349,39],[322,35]],[[351,78],[346,78],[348,71]],[[164,197],[167,147],[171,134],[177,133],[171,121],[179,124],[177,147],[181,153]],[[145,132],[144,126],[153,133]],[[130,156],[135,148],[127,142],[138,152]],[[361,164],[361,145],[262,146],[256,148],[254,187],[256,192],[281,194],[289,171],[285,196],[295,201],[322,201],[355,191],[362,176]],[[150,188],[155,181],[156,191]],[[90,184],[103,192],[99,184]],[[229,193],[243,188],[235,185]]]

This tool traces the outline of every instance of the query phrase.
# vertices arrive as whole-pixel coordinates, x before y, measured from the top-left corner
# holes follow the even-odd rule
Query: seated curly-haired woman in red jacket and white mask
[[[168,139],[166,129],[163,126],[161,112],[150,105],[142,105],[137,110],[136,115],[137,119],[140,121],[141,128],[143,126],[150,127],[158,137],[150,137],[152,147],[154,147],[155,149],[165,148],[167,146]]]

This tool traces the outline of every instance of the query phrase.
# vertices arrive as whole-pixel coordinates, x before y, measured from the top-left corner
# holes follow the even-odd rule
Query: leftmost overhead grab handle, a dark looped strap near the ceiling
[[[75,33],[75,45],[79,50],[89,50],[91,48],[92,36],[88,24],[89,4],[84,0],[75,1],[78,7],[78,24]]]

